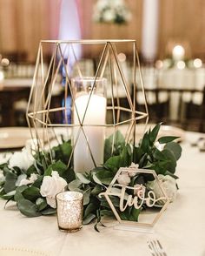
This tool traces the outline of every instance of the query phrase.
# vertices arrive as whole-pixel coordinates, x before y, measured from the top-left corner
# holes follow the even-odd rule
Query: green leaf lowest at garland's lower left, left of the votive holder
[[[27,199],[20,199],[17,201],[17,207],[23,215],[27,217],[37,217],[40,216],[41,213],[38,212],[36,204],[30,202]]]

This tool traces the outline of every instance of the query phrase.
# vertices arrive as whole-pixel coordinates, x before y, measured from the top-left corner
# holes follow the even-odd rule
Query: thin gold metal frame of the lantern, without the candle
[[[43,48],[45,44],[49,45],[52,51],[52,54],[50,57],[50,63],[48,65],[47,70],[45,70],[45,65],[44,65],[45,59],[43,54]],[[60,111],[64,113],[65,117],[67,117],[67,112],[68,111],[73,112],[74,108],[76,108],[74,95],[73,95],[73,88],[70,83],[70,73],[68,68],[69,55],[65,57],[65,53],[68,54],[69,52],[69,54],[72,54],[72,57],[75,59],[78,76],[83,77],[82,71],[78,64],[79,60],[76,57],[76,52],[74,47],[75,44],[81,44],[81,45],[86,44],[87,46],[89,44],[90,45],[101,44],[103,47],[102,53],[100,55],[99,63],[96,66],[94,84],[96,83],[97,77],[103,77],[103,74],[106,68],[108,68],[109,70],[109,86],[111,87],[111,105],[109,106],[107,105],[107,111],[112,111],[113,122],[111,124],[106,124],[106,125],[99,125],[99,124],[98,125],[91,124],[91,125],[105,126],[106,128],[109,128],[109,129],[111,128],[112,131],[114,131],[113,146],[115,142],[115,131],[120,129],[121,125],[127,125],[127,131],[125,136],[126,143],[129,143],[131,141],[133,145],[136,145],[136,123],[139,120],[143,119],[144,123],[147,125],[149,120],[149,112],[148,112],[148,106],[147,106],[146,96],[145,96],[144,87],[143,87],[142,73],[140,70],[140,62],[139,62],[138,52],[136,48],[136,40],[67,40],[67,41],[42,40],[39,44],[39,48],[37,52],[36,69],[33,77],[32,87],[30,90],[30,98],[29,98],[27,114],[26,114],[32,138],[37,138],[37,141],[39,144],[38,146],[42,150],[45,148],[45,146],[47,146],[50,152],[50,158],[52,159],[51,141],[53,139],[56,139],[56,141],[58,141],[56,129],[58,128],[67,129],[69,132],[69,135],[72,137],[72,129],[77,125],[69,123],[69,121],[66,118],[63,124],[52,123],[52,121],[50,120],[50,114]],[[133,95],[130,94],[129,82],[124,76],[122,64],[118,58],[116,44],[117,45],[129,44],[132,47]],[[128,107],[122,107],[120,105],[120,97],[118,96],[118,91],[116,89],[118,85],[116,87],[114,85],[114,84],[117,84],[117,81],[113,73],[113,66],[115,66],[116,71],[119,74],[117,79],[120,78],[122,82],[122,88],[125,92],[127,102],[129,104]],[[54,87],[56,84],[56,79],[61,67],[63,67],[65,71],[65,86],[64,86],[64,95],[63,95],[64,102],[66,102],[66,98],[70,93],[70,97],[72,98],[73,104],[70,107],[64,104],[59,107],[52,108],[51,99],[52,99]],[[137,83],[136,83],[136,71],[138,71],[138,75],[139,75],[139,79],[138,79],[139,82]],[[140,90],[142,90],[142,97],[144,100],[145,111],[136,110],[136,88],[138,87],[140,87],[141,88]],[[92,97],[93,88],[94,86],[90,91],[89,100]],[[116,90],[116,93],[114,93],[115,90]],[[88,109],[88,105],[89,105],[89,101],[86,107],[86,111]],[[83,120],[86,115],[86,111],[84,113]],[[128,112],[130,115],[130,118],[121,121],[120,120],[121,111]],[[79,118],[79,115],[78,115],[78,118]],[[81,121],[79,118],[79,125],[78,125],[79,131],[78,131],[77,138],[79,138],[80,133],[83,132],[83,135],[88,144],[90,156],[93,160],[94,165],[96,166],[93,153],[89,147],[89,140],[86,137],[86,133],[84,132],[83,127],[85,127],[85,125],[86,124],[83,124],[83,121]],[[77,138],[76,138],[76,141],[77,141]],[[71,152],[68,165],[70,164],[70,161],[76,146],[76,141],[73,143],[72,152]]]

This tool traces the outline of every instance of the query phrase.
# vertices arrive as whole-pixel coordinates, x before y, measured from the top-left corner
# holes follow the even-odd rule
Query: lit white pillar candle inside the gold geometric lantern
[[[88,101],[89,105],[86,110]],[[92,94],[89,99],[89,94],[83,94],[76,98],[75,104],[74,124],[77,126],[74,128],[74,143],[76,143],[74,149],[74,170],[75,172],[88,172],[95,167],[89,148],[95,159],[96,165],[101,165],[103,163],[105,127],[95,125],[105,125],[106,98]],[[86,114],[83,120],[85,111]],[[80,123],[82,122],[85,134],[80,126]],[[80,135],[77,138],[79,129]],[[89,145],[85,136],[88,139]]]

